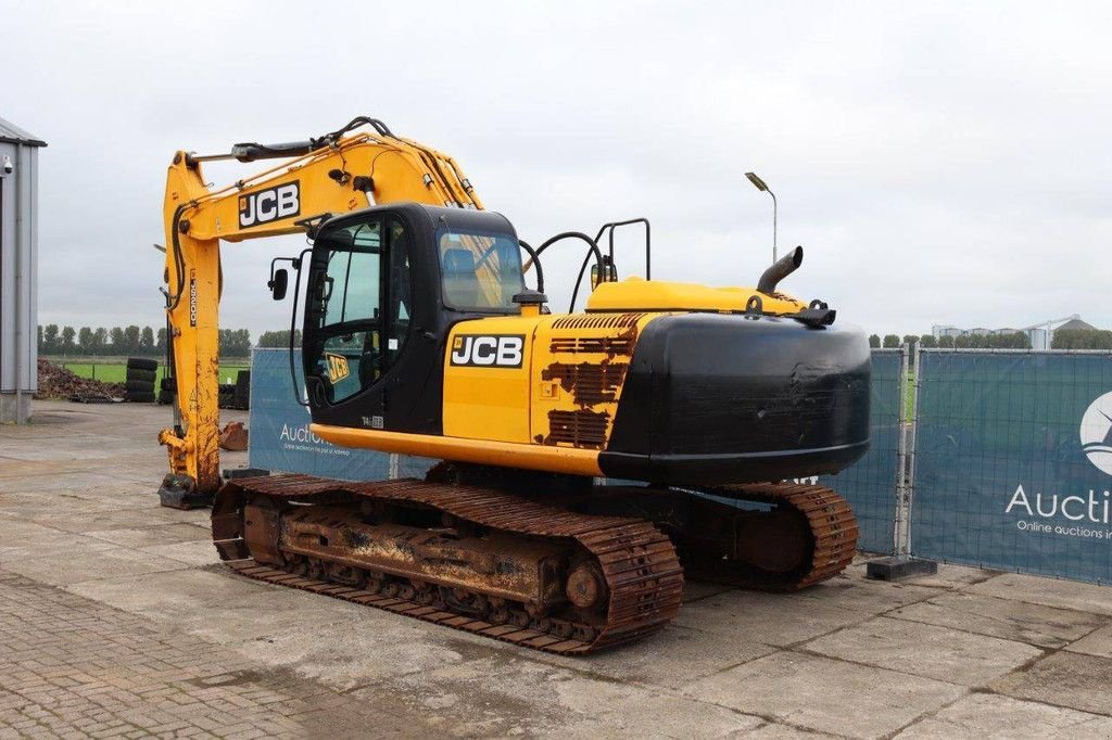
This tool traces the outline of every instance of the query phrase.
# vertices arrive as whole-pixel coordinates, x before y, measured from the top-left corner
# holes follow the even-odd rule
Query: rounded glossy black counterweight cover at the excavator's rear
[[[868,449],[868,386],[856,329],[662,317],[638,338],[599,467],[667,484],[835,473]]]

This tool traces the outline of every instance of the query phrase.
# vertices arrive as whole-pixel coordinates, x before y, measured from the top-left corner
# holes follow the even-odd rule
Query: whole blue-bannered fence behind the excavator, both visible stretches
[[[872,362],[870,450],[817,479],[853,507],[862,550],[1112,581],[1112,352],[900,348]],[[316,439],[291,386],[286,350],[255,351],[252,466],[374,479],[431,464]]]

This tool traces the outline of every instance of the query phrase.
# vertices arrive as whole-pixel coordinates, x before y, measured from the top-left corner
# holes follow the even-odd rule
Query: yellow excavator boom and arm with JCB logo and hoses
[[[356,131],[370,127],[373,131]],[[277,167],[211,190],[201,164],[281,159]],[[220,484],[220,240],[305,231],[308,221],[370,204],[414,201],[481,209],[451,157],[357,118],[320,138],[286,144],[236,144],[231,153],[175,154],[166,180],[166,316],[177,394],[173,426],[159,432],[170,473],[159,490],[167,506],[211,501]]]

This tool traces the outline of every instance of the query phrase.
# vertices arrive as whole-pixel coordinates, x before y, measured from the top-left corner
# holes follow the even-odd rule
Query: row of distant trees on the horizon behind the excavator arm
[[[287,332],[288,333],[288,332]],[[251,333],[247,329],[220,330],[220,357],[247,357]],[[161,357],[166,354],[166,328],[150,327],[61,327],[39,326],[39,354],[88,357]]]

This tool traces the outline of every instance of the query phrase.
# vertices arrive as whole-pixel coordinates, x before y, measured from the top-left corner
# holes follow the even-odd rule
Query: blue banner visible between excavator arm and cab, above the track
[[[295,350],[297,388],[304,397],[301,352]],[[294,397],[289,351],[251,352],[248,460],[252,468],[341,480],[420,478],[435,460],[336,447],[309,431],[309,410]]]

